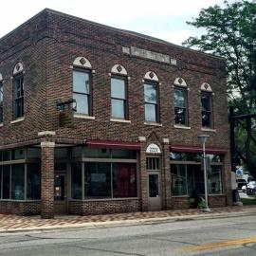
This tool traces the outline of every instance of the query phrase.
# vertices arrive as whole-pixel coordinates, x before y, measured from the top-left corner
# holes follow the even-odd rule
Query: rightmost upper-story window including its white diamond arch
[[[210,84],[201,85],[202,127],[212,128],[212,90]]]

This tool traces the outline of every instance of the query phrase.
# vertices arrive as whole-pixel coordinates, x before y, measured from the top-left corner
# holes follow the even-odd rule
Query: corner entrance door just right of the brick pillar
[[[54,175],[54,211],[57,214],[66,213],[66,178],[65,174]]]

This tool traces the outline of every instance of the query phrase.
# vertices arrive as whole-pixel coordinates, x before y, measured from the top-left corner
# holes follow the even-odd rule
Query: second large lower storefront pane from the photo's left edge
[[[24,199],[24,164],[11,166],[11,199]]]

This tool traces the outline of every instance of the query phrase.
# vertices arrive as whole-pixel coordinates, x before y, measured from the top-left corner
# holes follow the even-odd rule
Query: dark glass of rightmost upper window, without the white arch
[[[211,114],[211,95],[210,93],[202,92],[202,126],[212,127],[212,114]]]

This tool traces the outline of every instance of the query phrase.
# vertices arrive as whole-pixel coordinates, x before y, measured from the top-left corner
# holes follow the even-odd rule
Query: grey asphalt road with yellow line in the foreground
[[[0,255],[256,255],[256,217],[0,233]]]

